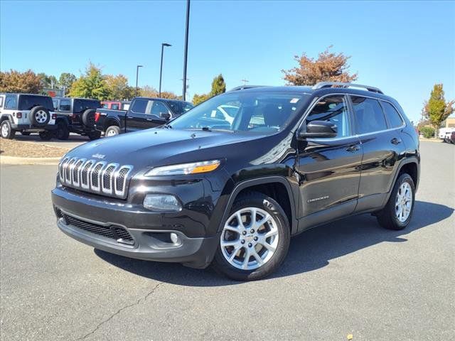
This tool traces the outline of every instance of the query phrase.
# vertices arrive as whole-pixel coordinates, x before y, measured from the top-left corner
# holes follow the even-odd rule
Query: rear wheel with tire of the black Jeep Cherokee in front
[[[414,181],[407,173],[397,179],[387,205],[378,212],[378,222],[386,229],[404,229],[414,211]]]

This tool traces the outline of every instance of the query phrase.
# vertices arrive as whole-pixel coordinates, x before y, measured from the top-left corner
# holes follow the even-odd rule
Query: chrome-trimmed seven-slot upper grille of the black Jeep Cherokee
[[[127,197],[128,175],[133,166],[65,158],[58,166],[62,185],[110,197]]]

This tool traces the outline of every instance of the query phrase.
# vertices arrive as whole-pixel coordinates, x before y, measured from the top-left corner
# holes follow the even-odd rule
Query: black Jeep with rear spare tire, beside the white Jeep
[[[54,97],[53,106],[57,117],[55,137],[68,140],[70,133],[86,135],[90,140],[99,139],[95,130],[95,110],[102,107],[97,99]]]

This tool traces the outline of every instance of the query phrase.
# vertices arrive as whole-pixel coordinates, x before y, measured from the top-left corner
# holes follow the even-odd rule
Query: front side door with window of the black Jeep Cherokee
[[[355,210],[360,183],[362,147],[353,134],[353,119],[343,94],[319,99],[301,129],[310,121],[336,124],[337,136],[298,142],[302,228],[348,215]],[[325,213],[323,213],[325,212]]]

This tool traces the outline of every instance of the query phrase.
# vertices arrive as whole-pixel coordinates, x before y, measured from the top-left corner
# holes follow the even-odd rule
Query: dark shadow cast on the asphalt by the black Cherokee
[[[324,224],[291,239],[289,254],[281,268],[268,278],[279,278],[321,269],[331,259],[381,242],[406,242],[405,236],[450,217],[454,209],[432,202],[416,201],[414,217],[402,231],[380,227],[376,218],[365,214]],[[180,264],[129,259],[95,249],[101,259],[139,276],[181,286],[225,286],[240,284],[208,269],[190,269]],[[266,278],[267,279],[267,278]]]

